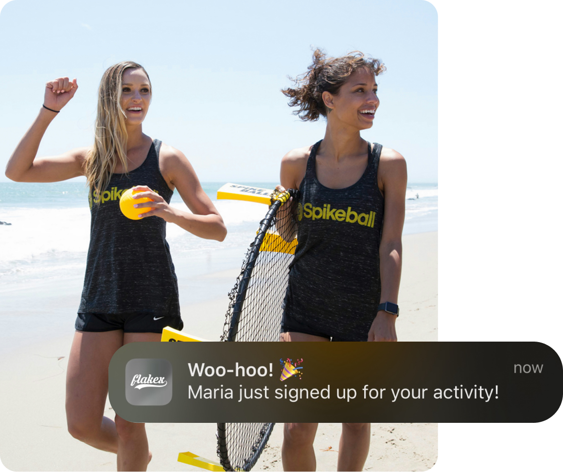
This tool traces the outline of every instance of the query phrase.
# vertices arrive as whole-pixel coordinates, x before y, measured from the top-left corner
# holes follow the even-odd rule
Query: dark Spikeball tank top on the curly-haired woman
[[[297,248],[285,312],[330,336],[367,340],[381,295],[379,242],[383,195],[377,186],[381,144],[368,145],[368,166],[354,184],[329,189],[316,178],[311,149],[297,206]]]

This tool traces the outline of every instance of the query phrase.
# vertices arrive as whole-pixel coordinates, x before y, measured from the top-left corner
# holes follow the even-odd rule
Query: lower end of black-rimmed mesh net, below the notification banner
[[[217,423],[217,454],[226,472],[248,472],[266,446],[275,423]]]

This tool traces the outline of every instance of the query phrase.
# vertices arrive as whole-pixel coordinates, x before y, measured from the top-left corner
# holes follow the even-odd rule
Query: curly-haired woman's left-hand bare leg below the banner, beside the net
[[[315,472],[313,450],[318,423],[284,423],[282,464],[284,472]]]

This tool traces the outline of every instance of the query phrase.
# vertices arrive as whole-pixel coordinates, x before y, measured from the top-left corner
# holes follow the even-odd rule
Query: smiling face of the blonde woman
[[[127,124],[140,124],[149,110],[151,98],[149,78],[142,69],[126,69],[123,72],[121,108]]]

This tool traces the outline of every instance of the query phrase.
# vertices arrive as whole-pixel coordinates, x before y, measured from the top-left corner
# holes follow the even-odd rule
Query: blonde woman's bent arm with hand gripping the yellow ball
[[[186,156],[177,149],[163,144],[160,148],[159,159],[164,179],[169,185],[176,186],[182,200],[192,213],[172,208],[158,193],[140,185],[135,189],[145,190],[145,192],[136,193],[133,198],[148,197],[154,200],[154,202],[138,203],[137,208],[154,208],[142,213],[142,218],[159,216],[200,238],[223,241],[227,235],[225,223],[211,199],[203,191],[198,176]]]

